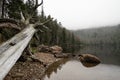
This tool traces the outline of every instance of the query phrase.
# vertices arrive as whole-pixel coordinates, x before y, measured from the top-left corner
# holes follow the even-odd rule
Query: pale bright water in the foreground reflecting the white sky
[[[54,67],[54,66],[53,66]],[[57,68],[57,72],[51,76],[45,76],[44,80],[119,80],[120,67],[115,65],[99,64],[86,68],[80,61],[70,60]]]

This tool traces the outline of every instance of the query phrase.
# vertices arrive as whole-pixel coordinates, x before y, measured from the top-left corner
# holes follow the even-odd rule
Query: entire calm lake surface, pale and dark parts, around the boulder
[[[51,65],[44,80],[120,80],[120,56],[116,50],[86,48],[80,53],[94,53],[102,63],[94,67],[85,67],[79,60],[64,59]],[[108,48],[108,47],[107,47]],[[108,51],[107,51],[108,50]],[[115,52],[116,51],[116,52]],[[104,53],[105,52],[105,53]],[[113,56],[111,54],[113,53]],[[99,54],[98,54],[99,53]]]

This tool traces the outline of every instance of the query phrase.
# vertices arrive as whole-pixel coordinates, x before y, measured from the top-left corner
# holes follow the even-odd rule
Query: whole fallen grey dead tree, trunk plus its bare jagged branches
[[[34,24],[30,23],[30,19],[32,19],[33,15],[35,14],[35,11],[42,4],[43,0],[41,0],[41,3],[38,3],[38,0],[35,0],[35,4],[33,5],[32,9],[33,13],[26,12],[27,10],[25,11],[26,13],[21,11],[20,23],[25,25],[22,31],[21,28],[19,28],[19,22],[10,19],[0,19],[0,28],[14,28],[21,31],[20,33],[18,33],[17,35],[15,35],[10,40],[6,41],[0,46],[0,80],[4,79],[9,70],[21,56],[23,50],[27,47],[31,38],[35,34],[35,29],[40,26],[47,29],[47,27],[44,24],[50,21],[51,19],[43,23],[41,23],[39,20]],[[23,13],[28,16],[25,17]]]

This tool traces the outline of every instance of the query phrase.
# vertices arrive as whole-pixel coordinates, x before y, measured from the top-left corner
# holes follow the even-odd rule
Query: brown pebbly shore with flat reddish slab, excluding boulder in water
[[[61,50],[53,50],[52,52],[57,54]],[[55,57],[52,52],[42,51],[35,53],[33,56],[37,61],[31,58],[27,58],[25,61],[18,60],[4,80],[41,80],[49,65],[62,59]]]

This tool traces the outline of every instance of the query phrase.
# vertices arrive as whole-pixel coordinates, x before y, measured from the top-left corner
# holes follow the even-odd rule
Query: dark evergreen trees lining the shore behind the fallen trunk
[[[44,24],[45,27],[37,27],[38,32],[31,40],[31,45],[33,47],[37,47],[40,44],[50,46],[59,45],[63,48],[64,52],[74,52],[76,49],[79,49],[80,39],[76,37],[73,32],[64,28],[57,19],[53,19],[51,15],[46,16],[44,14],[43,6],[41,13],[38,13],[38,10],[36,10],[35,13],[32,14],[32,10],[36,7],[34,6],[34,3],[36,3],[35,1],[38,0],[1,0],[0,4],[2,4],[2,6],[0,6],[0,10],[2,12],[0,13],[0,16],[1,18],[21,20],[21,14],[28,16],[27,14],[29,13],[32,15],[32,18],[30,19],[30,23],[32,24],[38,20],[40,20],[41,23],[51,20]],[[7,40],[17,32],[19,31],[1,29],[0,34],[4,35],[4,40]]]

